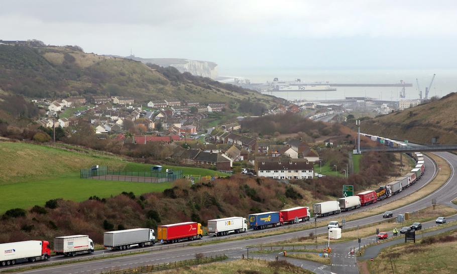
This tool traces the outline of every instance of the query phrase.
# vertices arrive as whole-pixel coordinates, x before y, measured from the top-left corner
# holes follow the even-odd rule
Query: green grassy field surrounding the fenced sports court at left
[[[68,147],[68,146],[65,146]],[[106,156],[112,157],[112,156]],[[162,192],[171,183],[151,184],[80,179],[80,170],[92,165],[108,166],[110,170],[150,172],[151,165],[119,161],[87,154],[23,143],[0,143],[0,214],[12,208],[44,205],[50,199],[63,198],[85,201],[90,196],[100,198],[123,191],[137,195]],[[207,169],[164,166],[183,170],[184,175],[227,176]]]

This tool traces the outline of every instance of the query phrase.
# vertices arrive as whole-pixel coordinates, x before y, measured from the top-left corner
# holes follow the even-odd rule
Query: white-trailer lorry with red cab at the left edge
[[[0,266],[22,261],[47,260],[51,256],[48,241],[21,241],[0,244]]]

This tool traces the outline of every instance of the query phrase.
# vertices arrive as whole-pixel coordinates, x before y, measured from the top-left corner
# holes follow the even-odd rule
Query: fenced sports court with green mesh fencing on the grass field
[[[107,166],[103,166],[80,170],[80,178],[122,182],[163,183],[183,178],[183,171],[176,170],[172,174],[168,172],[133,172],[108,170]]]

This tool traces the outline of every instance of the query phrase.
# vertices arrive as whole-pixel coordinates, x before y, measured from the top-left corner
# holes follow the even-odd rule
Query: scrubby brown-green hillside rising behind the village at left
[[[133,96],[140,102],[180,100],[255,101],[267,107],[278,98],[181,74],[175,68],[147,65],[124,58],[84,53],[77,47],[0,45],[0,90],[29,98],[91,95]]]

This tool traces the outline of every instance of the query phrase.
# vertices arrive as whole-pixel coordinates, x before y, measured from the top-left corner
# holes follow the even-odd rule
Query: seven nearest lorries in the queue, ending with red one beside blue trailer
[[[309,207],[294,207],[276,212],[264,212],[244,217],[228,217],[208,220],[208,234],[214,236],[229,233],[241,233],[251,228],[261,229],[309,220]],[[182,240],[200,239],[203,236],[201,224],[184,222],[157,227],[157,240],[162,243],[175,243]],[[131,246],[144,247],[154,245],[156,234],[154,229],[134,228],[103,233],[105,249],[123,250]],[[92,253],[94,243],[88,235],[70,235],[54,238],[56,255],[74,256],[80,253]],[[16,262],[47,260],[51,256],[49,241],[31,240],[0,244],[0,265],[12,265]]]

